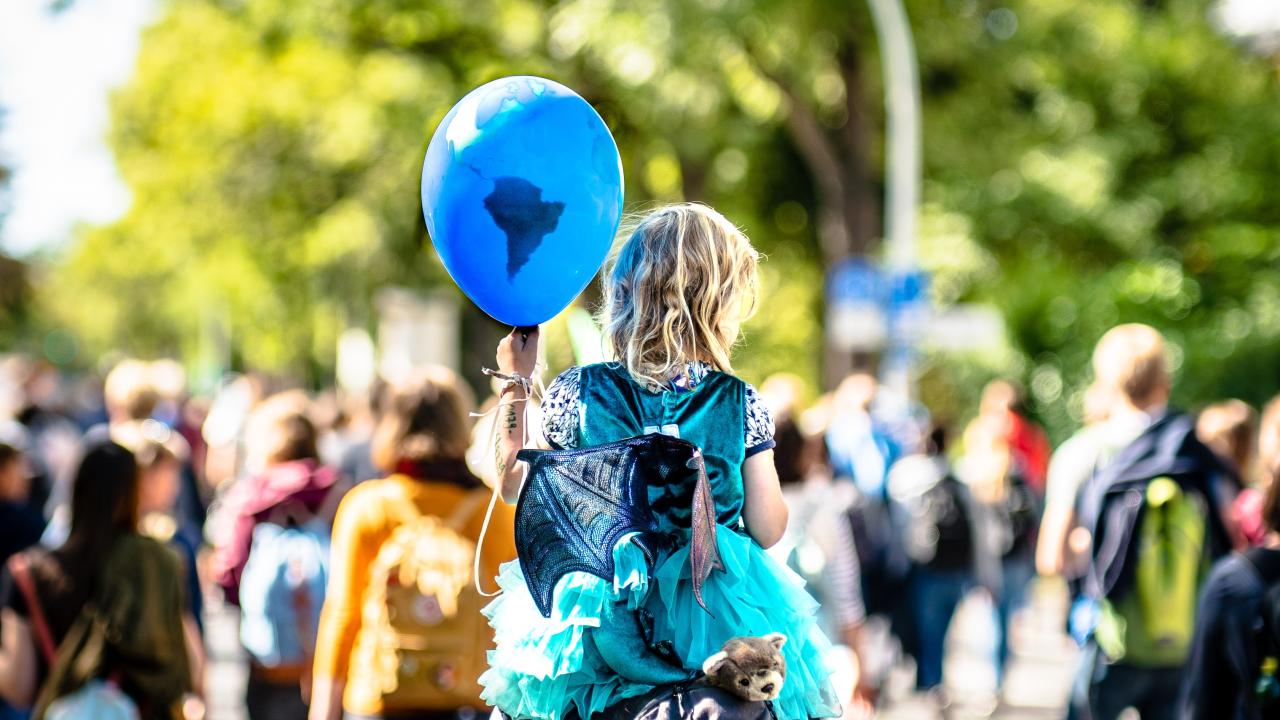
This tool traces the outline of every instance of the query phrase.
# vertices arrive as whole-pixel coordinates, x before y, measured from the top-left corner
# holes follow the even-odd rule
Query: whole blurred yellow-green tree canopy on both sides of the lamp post
[[[1280,387],[1276,65],[1208,0],[911,0],[922,263],[941,307],[1000,307],[1009,347],[931,356],[959,419],[1010,374],[1061,436],[1092,343],[1166,331],[1180,400]],[[545,74],[617,137],[630,210],[705,200],[768,255],[739,369],[819,382],[826,266],[876,254],[882,86],[865,6],[835,0],[169,0],[114,97],[133,192],[41,291],[91,352],[229,343],[312,379],[379,287],[449,287],[419,172],[467,90]],[[829,360],[829,359],[828,359]]]

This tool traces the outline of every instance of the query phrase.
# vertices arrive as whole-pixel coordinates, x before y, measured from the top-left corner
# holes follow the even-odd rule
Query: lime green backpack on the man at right
[[[1196,601],[1208,570],[1204,503],[1169,478],[1147,484],[1133,589],[1102,601],[1094,630],[1112,661],[1170,667],[1187,661]]]

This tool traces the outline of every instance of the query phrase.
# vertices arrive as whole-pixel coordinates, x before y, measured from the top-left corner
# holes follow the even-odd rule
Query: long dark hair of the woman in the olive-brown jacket
[[[72,486],[72,528],[58,551],[69,578],[88,588],[115,541],[138,525],[138,464],[114,442],[90,446]]]

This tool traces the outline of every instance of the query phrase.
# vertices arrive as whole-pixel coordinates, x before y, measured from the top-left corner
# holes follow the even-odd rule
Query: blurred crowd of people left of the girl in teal
[[[463,585],[489,491],[465,459],[472,396],[453,373],[425,368],[347,410],[252,378],[210,404],[164,382],[172,364],[125,360],[95,407],[49,366],[3,368],[0,717],[202,716],[206,598],[238,609],[250,717],[477,705],[468,670],[489,638]],[[442,565],[449,543],[465,557]],[[506,507],[481,553],[489,578],[515,557]],[[388,653],[415,635],[431,639]],[[389,688],[403,669],[388,657],[419,660],[424,688],[456,687]]]

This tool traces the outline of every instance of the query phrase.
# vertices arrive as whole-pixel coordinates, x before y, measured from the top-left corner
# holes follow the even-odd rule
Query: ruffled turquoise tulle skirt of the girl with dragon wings
[[[502,566],[502,594],[484,611],[497,641],[489,670],[480,678],[485,702],[520,720],[561,720],[575,706],[589,719],[653,689],[618,676],[591,641],[593,633],[609,632],[607,607],[626,600],[653,616],[653,639],[669,643],[691,673],[731,637],[785,634],[787,676],[774,702],[778,717],[840,715],[828,682],[831,642],[818,629],[818,602],[800,577],[751,539],[719,527],[724,571],[712,573],[703,584],[708,614],[694,600],[687,547],[659,557],[650,574],[644,553],[630,541],[623,538],[613,550],[612,583],[586,573],[562,578],[550,618],[534,605],[520,564]]]

